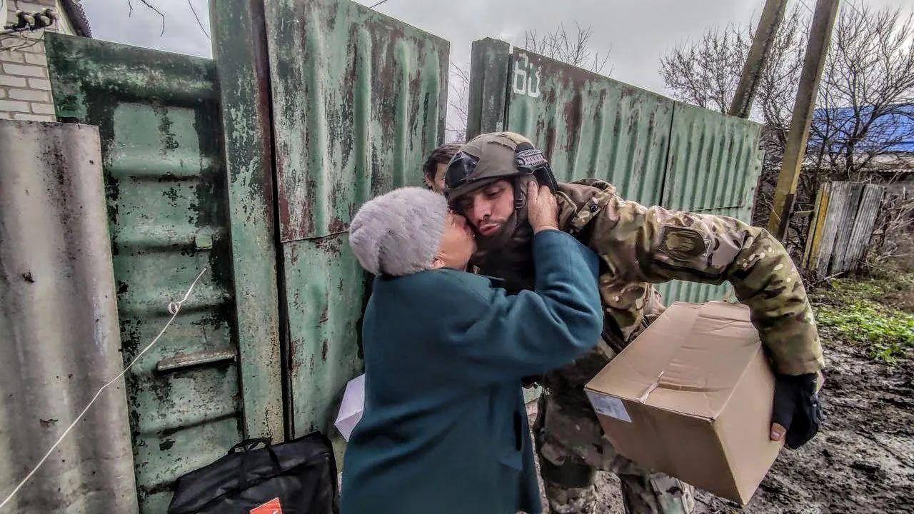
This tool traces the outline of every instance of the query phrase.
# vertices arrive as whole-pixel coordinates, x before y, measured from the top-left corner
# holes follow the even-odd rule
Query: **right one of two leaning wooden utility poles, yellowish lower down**
[[[781,174],[774,189],[774,207],[768,221],[768,230],[781,241],[787,237],[802,160],[806,154],[809,125],[813,121],[815,98],[819,91],[819,80],[822,79],[825,56],[828,54],[828,46],[832,39],[832,27],[838,14],[838,4],[839,0],[818,0],[815,3],[813,27],[810,28],[806,56],[802,61],[800,84],[797,88],[796,102],[793,103],[791,129],[787,134]]]

